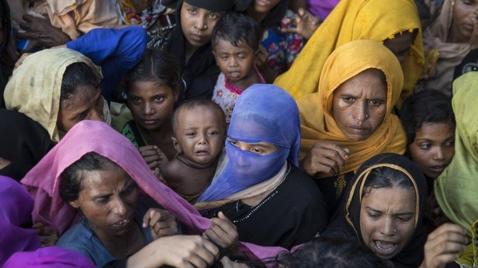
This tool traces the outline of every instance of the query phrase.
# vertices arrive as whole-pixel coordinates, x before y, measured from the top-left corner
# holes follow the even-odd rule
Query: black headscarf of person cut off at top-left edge
[[[2,5],[3,13],[0,14],[3,30],[3,41],[0,43],[0,56],[3,57],[3,53],[7,47],[8,41],[10,40],[10,35],[12,31],[12,22],[10,21],[10,8],[6,0],[0,0],[0,5]],[[3,63],[0,61],[0,108],[5,106],[3,101],[3,91],[5,90],[5,85],[7,84],[8,75],[5,72]]]

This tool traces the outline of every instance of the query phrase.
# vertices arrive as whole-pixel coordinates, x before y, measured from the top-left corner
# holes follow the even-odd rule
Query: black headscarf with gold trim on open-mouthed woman
[[[323,236],[350,237],[364,244],[360,231],[360,188],[365,184],[370,171],[382,166],[405,173],[417,193],[415,229],[406,246],[390,261],[394,263],[395,267],[419,267],[423,261],[423,247],[426,239],[422,218],[427,200],[427,183],[420,168],[403,155],[380,154],[370,158],[358,168],[352,182],[347,187],[344,202],[339,207],[335,220],[325,230]]]

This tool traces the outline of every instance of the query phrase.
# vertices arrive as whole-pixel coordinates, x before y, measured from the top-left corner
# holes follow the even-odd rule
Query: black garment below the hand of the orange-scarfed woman
[[[315,184],[324,194],[327,204],[327,219],[332,220],[340,204],[342,204],[345,190],[354,178],[354,172],[348,172],[334,177],[314,179]]]

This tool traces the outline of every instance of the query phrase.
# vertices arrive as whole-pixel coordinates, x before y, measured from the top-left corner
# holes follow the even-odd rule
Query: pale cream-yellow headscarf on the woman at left
[[[56,121],[60,111],[61,83],[66,68],[75,62],[85,62],[98,80],[103,78],[101,69],[81,53],[68,48],[45,49],[28,56],[13,72],[3,94],[6,108],[38,122],[48,131],[51,140],[59,142]],[[105,101],[103,116],[106,123],[111,123]]]

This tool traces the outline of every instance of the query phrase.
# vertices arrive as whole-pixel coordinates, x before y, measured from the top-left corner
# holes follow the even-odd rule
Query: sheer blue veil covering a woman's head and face
[[[247,88],[236,102],[227,135],[244,143],[274,144],[278,150],[263,156],[226,141],[229,162],[198,203],[223,200],[262,183],[276,175],[287,160],[299,165],[299,109],[292,96],[280,87],[254,84]]]

